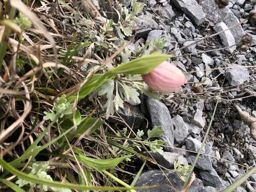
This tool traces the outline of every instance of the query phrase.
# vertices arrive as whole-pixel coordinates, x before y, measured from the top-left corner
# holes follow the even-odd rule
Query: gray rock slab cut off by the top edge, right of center
[[[172,0],[170,3],[173,3],[183,11],[196,25],[200,25],[205,21],[205,14],[196,0]]]

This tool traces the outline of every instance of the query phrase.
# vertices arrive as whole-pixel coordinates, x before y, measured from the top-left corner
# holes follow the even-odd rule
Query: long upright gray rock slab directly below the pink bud
[[[167,146],[173,146],[174,143],[174,129],[172,124],[172,118],[169,110],[164,105],[164,103],[148,98],[147,108],[151,117],[151,122],[153,126],[162,126],[164,133],[161,135],[162,139]],[[166,150],[171,151],[171,148],[166,148]]]

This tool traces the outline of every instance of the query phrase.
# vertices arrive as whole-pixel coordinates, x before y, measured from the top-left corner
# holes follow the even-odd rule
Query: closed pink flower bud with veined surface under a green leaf
[[[149,74],[142,75],[143,81],[154,91],[170,93],[187,83],[185,75],[170,62],[164,61]]]

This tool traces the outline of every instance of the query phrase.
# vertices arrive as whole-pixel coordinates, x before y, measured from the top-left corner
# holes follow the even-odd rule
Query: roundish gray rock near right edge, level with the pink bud
[[[233,64],[229,67],[241,67]],[[250,75],[247,68],[231,68],[227,70],[227,80],[230,85],[241,85],[246,81],[250,80]]]

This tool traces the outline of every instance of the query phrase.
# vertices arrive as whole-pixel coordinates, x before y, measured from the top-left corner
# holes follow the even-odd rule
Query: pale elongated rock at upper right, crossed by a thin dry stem
[[[227,25],[224,22],[220,22],[217,26],[214,27],[214,30],[218,33],[220,31],[228,29]],[[219,34],[223,46],[228,47],[227,50],[230,53],[236,50],[236,41],[234,36],[231,34],[230,30],[226,30]],[[234,45],[234,46],[233,46]]]

